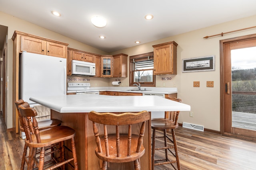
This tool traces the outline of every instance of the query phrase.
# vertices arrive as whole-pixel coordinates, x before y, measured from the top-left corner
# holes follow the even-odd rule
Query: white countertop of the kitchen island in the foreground
[[[190,106],[158,96],[62,95],[31,97],[30,100],[60,113],[190,111]]]

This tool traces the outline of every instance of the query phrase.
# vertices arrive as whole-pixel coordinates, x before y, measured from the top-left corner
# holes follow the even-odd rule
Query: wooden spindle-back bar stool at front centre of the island
[[[142,145],[146,121],[150,119],[148,111],[138,113],[97,113],[91,111],[88,115],[93,123],[93,131],[96,137],[97,147],[95,154],[103,160],[102,170],[106,170],[108,162],[122,163],[134,161],[135,170],[140,170],[139,158],[145,153]],[[96,123],[103,124],[97,127]],[[138,134],[132,134],[132,125],[142,123]],[[107,125],[116,126],[116,133],[108,134]],[[119,131],[119,125],[127,125],[128,134]],[[138,126],[138,125],[137,125]],[[123,127],[125,128],[125,127]],[[99,132],[99,130],[102,130]],[[103,134],[103,135],[102,135]]]

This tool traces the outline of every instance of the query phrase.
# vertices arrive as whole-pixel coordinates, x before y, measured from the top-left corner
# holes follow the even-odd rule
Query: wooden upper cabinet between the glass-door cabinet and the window
[[[113,55],[113,77],[127,77],[126,54]]]

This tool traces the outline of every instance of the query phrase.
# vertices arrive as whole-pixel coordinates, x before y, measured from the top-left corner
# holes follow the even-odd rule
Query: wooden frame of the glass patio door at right
[[[242,44],[242,41],[249,40],[256,40],[256,34],[220,40],[220,133],[222,135],[256,141],[256,135],[250,133],[250,130],[232,127],[231,69],[230,72],[226,71],[228,67],[231,68],[231,59],[226,57],[231,56],[229,44],[235,42],[241,42]],[[243,135],[239,135],[237,131],[243,133]]]

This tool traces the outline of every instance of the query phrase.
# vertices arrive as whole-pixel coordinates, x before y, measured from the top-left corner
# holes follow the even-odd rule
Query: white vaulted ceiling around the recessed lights
[[[53,16],[52,10],[62,16]],[[256,15],[256,0],[0,0],[0,11],[113,52],[135,41],[143,44]],[[146,14],[153,20],[145,20]],[[106,18],[106,27],[92,25],[96,15]]]

